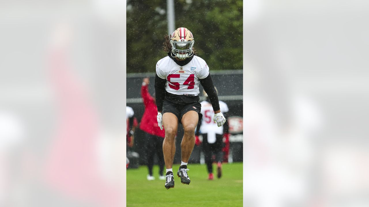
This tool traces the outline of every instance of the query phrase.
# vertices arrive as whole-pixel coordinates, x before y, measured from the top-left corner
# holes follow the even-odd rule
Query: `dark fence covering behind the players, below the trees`
[[[217,87],[218,90],[219,100],[224,101],[228,105],[228,116],[243,116],[242,76],[242,70],[211,72],[211,77],[213,78],[214,85],[215,87]],[[150,80],[149,92],[150,94],[153,94],[155,92],[155,73],[127,74],[127,106],[132,107],[138,122],[141,122],[141,118],[145,110],[140,91],[142,79],[145,77],[148,77]],[[200,84],[200,97],[202,95],[202,91],[203,88]],[[181,161],[180,143],[183,137],[183,127],[181,124],[179,124],[178,130],[179,131],[176,138],[176,154],[174,157],[174,163],[176,164],[180,163]],[[139,127],[137,127],[135,131],[134,146],[129,150],[135,151],[139,154],[140,165],[146,164],[145,148],[147,140],[145,139],[145,133],[141,131]],[[230,137],[230,142],[230,161],[242,162],[242,131],[238,131],[237,134],[232,134]],[[200,146],[195,145],[189,162],[200,162],[200,148]]]

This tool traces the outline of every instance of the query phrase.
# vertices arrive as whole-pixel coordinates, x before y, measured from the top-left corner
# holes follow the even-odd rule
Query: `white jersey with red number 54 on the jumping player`
[[[199,94],[199,79],[209,75],[209,67],[205,60],[193,56],[184,66],[179,66],[169,56],[156,63],[156,74],[166,79],[165,90],[171,94]]]

